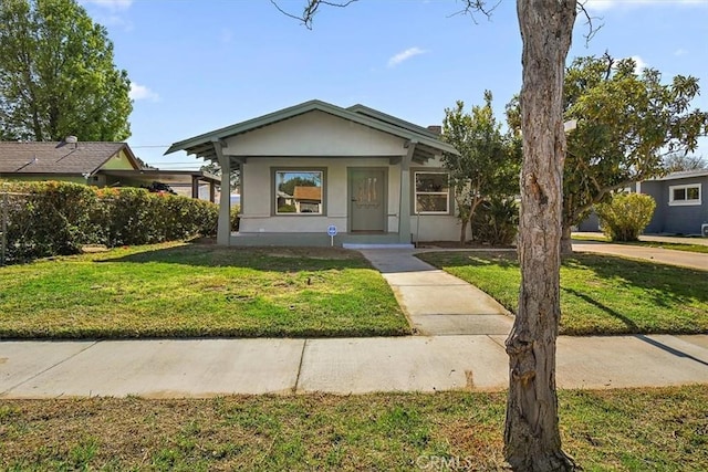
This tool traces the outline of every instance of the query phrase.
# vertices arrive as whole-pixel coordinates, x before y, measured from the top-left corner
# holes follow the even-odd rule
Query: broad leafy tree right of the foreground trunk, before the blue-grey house
[[[614,190],[666,172],[664,157],[694,150],[708,133],[708,113],[691,109],[698,80],[662,83],[654,69],[632,59],[579,57],[565,75],[564,113],[576,119],[568,136],[563,172],[562,251],[572,252],[571,228]]]

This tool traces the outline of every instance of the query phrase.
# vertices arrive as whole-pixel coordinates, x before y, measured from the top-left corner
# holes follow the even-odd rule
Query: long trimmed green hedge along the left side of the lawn
[[[6,200],[8,262],[76,254],[86,244],[112,248],[210,237],[219,214],[218,206],[204,200],[59,181],[0,182],[0,208]]]

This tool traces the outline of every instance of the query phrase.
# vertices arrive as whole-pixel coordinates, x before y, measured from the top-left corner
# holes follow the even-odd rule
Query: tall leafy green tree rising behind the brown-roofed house
[[[127,73],[74,0],[0,1],[0,134],[8,139],[124,140]]]

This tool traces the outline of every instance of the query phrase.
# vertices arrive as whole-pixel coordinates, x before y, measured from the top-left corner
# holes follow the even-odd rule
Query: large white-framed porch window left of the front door
[[[275,214],[322,214],[322,170],[275,170]]]

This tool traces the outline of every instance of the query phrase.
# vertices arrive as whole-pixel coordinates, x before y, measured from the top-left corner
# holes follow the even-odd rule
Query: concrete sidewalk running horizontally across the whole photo
[[[0,342],[0,398],[501,390],[503,335]],[[708,335],[565,337],[558,386],[708,382]]]

